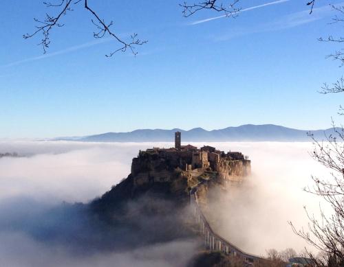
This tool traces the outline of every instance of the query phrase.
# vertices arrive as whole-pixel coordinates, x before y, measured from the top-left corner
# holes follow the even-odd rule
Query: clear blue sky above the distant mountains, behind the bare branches
[[[101,2],[101,3],[100,3]],[[264,5],[266,3],[272,3]],[[33,17],[41,1],[11,1],[0,10],[0,137],[56,137],[137,128],[279,124],[329,128],[342,95],[316,93],[343,71],[325,56],[335,45],[316,40],[341,33],[334,12],[318,1],[240,1],[236,19],[204,11],[182,16],[180,1],[89,1],[122,38],[149,42],[130,53],[111,39],[95,40],[82,5],[52,31],[43,55]],[[260,8],[257,5],[264,5]],[[204,21],[206,20],[206,21]]]

